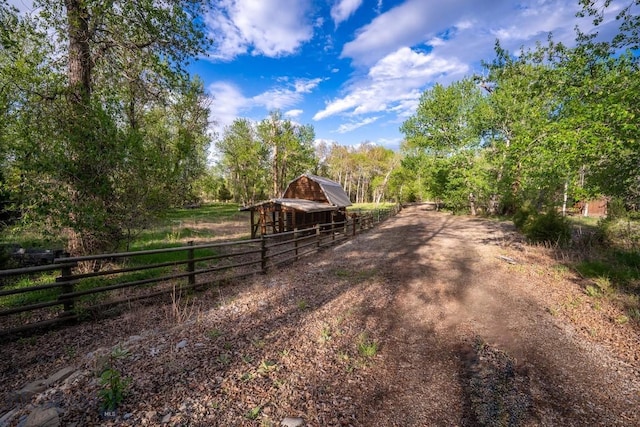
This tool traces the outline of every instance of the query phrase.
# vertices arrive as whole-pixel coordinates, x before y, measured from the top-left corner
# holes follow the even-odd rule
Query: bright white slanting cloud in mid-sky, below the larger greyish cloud
[[[364,78],[347,87],[345,96],[327,102],[313,119],[381,111],[404,116],[409,109],[413,111],[429,82],[442,76],[460,77],[467,71],[468,66],[460,61],[403,47],[378,61]]]

